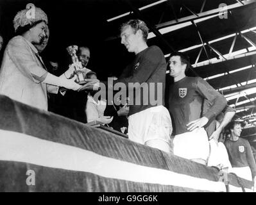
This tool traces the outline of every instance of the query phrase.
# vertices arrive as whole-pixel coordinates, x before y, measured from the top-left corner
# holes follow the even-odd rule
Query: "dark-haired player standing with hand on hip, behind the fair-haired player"
[[[187,77],[190,66],[183,53],[172,53],[169,59],[170,76],[175,83],[169,90],[169,112],[174,120],[173,152],[177,156],[206,165],[209,140],[203,126],[226,106],[226,99],[200,77]],[[203,113],[204,99],[210,102]]]

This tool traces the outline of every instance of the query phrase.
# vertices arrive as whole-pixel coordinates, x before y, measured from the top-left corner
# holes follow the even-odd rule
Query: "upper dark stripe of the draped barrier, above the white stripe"
[[[218,171],[0,95],[0,129],[80,147],[117,160],[218,181]],[[230,176],[233,177],[234,176]],[[231,178],[232,179],[232,178]],[[244,180],[243,180],[244,181]],[[246,181],[246,180],[245,180]],[[236,179],[230,184],[239,186]],[[249,181],[246,188],[251,188]]]

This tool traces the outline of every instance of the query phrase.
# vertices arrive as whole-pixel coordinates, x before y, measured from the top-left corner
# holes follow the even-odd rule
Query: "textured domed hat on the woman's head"
[[[13,19],[13,26],[15,31],[19,27],[26,26],[28,24],[32,25],[38,20],[44,20],[46,24],[48,23],[47,15],[40,8],[35,7],[34,4],[27,4],[26,9],[18,12]]]

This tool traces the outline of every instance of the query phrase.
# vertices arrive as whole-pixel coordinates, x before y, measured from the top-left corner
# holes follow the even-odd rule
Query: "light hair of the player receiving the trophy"
[[[143,20],[140,19],[131,19],[127,22],[123,23],[120,27],[120,31],[122,32],[124,27],[131,26],[134,33],[136,33],[138,30],[142,31],[142,36],[145,42],[148,40],[148,26]]]

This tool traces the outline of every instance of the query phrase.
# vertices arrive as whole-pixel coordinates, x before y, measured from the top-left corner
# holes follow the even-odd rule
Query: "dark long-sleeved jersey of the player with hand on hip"
[[[212,103],[202,113],[203,99]],[[185,77],[171,85],[169,90],[169,112],[173,119],[175,135],[186,133],[187,124],[192,120],[216,117],[226,106],[226,99],[200,77]]]

